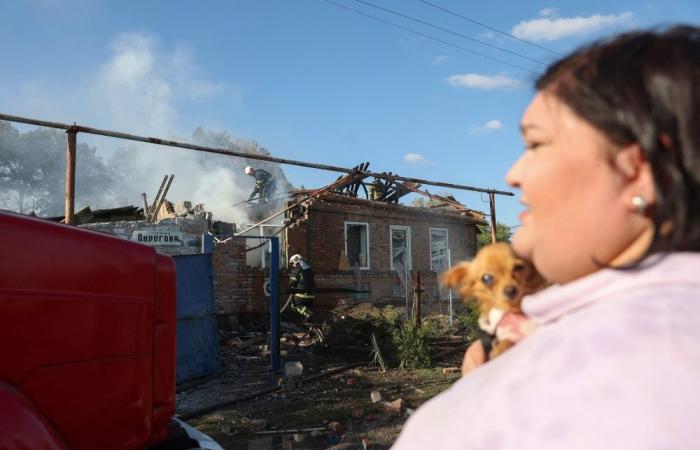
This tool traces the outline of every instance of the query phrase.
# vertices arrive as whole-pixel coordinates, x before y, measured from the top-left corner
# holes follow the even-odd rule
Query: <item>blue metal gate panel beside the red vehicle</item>
[[[219,369],[219,342],[214,313],[211,253],[178,255],[177,382]]]

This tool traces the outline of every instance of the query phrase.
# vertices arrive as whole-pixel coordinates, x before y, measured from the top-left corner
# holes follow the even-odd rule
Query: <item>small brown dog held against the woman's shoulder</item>
[[[442,275],[442,283],[456,287],[465,301],[479,307],[479,338],[485,354],[494,358],[529,334],[534,324],[520,309],[524,295],[546,285],[534,266],[517,257],[510,245],[499,242],[482,248]]]

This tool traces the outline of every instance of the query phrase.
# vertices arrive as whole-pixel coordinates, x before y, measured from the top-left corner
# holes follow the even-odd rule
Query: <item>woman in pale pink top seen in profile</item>
[[[698,448],[700,29],[593,44],[536,87],[513,248],[556,285],[523,300],[537,331],[393,448]]]

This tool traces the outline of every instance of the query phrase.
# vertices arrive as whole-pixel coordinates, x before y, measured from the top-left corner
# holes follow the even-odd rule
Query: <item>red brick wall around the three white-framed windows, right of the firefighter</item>
[[[354,276],[342,260],[345,258],[345,222],[369,225],[370,270],[362,271],[362,288],[371,291],[367,294],[368,300],[400,300],[404,296],[398,276],[391,271],[391,225],[408,226],[411,230],[412,268],[421,272],[426,302],[436,302],[441,296],[436,274],[430,271],[429,229],[448,230],[453,264],[472,257],[476,251],[476,226],[470,218],[333,196],[314,202],[309,208],[308,219],[287,231],[287,254],[306,256],[314,269],[318,287],[354,286]],[[443,290],[442,297],[446,298],[446,295]],[[317,303],[334,306],[348,297],[348,294],[319,294]]]

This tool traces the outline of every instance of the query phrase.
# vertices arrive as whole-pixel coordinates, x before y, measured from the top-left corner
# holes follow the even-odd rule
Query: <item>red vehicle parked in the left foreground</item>
[[[0,449],[221,447],[174,419],[175,265],[0,212]]]

